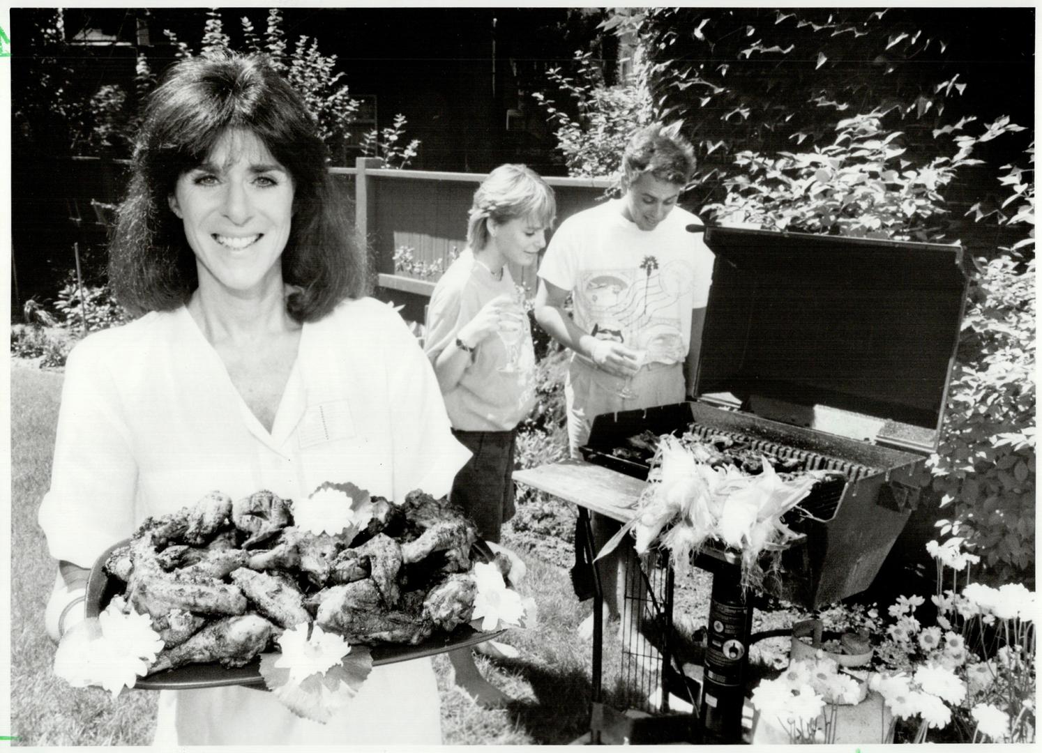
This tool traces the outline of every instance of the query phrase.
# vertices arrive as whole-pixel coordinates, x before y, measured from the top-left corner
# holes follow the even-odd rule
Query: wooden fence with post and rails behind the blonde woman
[[[338,180],[353,183],[354,221],[378,273],[377,294],[406,306],[407,319],[422,319],[423,306],[441,272],[467,245],[467,211],[486,174],[389,170],[379,159],[361,157],[354,168],[332,168]],[[602,200],[604,178],[546,177],[557,200],[557,224]],[[548,233],[549,234],[549,233]],[[407,250],[413,271],[396,268],[395,252]],[[536,269],[511,268],[529,296]]]

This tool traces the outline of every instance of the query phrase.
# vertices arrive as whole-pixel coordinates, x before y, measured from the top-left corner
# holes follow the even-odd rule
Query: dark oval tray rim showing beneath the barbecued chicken
[[[125,546],[128,539],[124,539],[106,549],[91,568],[91,574],[86,580],[86,617],[98,617],[107,606],[109,600],[123,589],[123,582],[118,578],[108,575],[105,570],[105,561],[108,555],[119,547]],[[478,542],[475,545],[476,553],[488,560],[492,552],[485,545]],[[469,625],[461,625],[451,633],[436,633],[426,641],[416,646],[404,646],[384,644],[370,647],[373,656],[373,666],[391,664],[396,661],[408,661],[419,659],[435,654],[454,651],[455,649],[474,646],[482,641],[489,641],[501,635],[504,630],[481,632]],[[220,687],[224,685],[248,685],[264,687],[264,678],[260,676],[260,657],[255,657],[248,664],[243,667],[226,668],[220,663],[185,664],[173,670],[157,672],[152,675],[145,675],[138,678],[134,689],[139,691],[184,691],[198,687]]]

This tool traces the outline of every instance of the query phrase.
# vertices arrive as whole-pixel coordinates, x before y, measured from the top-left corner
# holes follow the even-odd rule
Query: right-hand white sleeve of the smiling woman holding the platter
[[[404,323],[388,326],[388,395],[394,437],[394,500],[422,490],[443,497],[452,488],[456,472],[470,459],[470,451],[452,436],[438,379]]]

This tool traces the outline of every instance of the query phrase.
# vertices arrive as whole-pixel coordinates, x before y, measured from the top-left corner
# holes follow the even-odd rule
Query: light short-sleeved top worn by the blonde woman
[[[486,303],[516,290],[511,271],[496,279],[465,249],[438,280],[427,307],[424,349],[433,362],[456,333]],[[536,354],[528,318],[518,344],[517,371],[501,372],[507,362],[505,345],[495,334],[482,341],[460,382],[445,393],[445,409],[452,426],[464,431],[510,431],[536,404]]]

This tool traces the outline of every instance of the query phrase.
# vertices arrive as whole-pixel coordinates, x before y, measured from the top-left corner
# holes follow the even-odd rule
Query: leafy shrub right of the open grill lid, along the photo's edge
[[[1012,193],[998,209],[1031,235],[975,259],[944,434],[929,466],[950,518],[942,534],[975,545],[992,578],[1035,579],[1034,146],[1031,168],[1004,166]],[[1002,209],[1012,211],[1002,214]],[[972,211],[979,211],[974,207]]]

